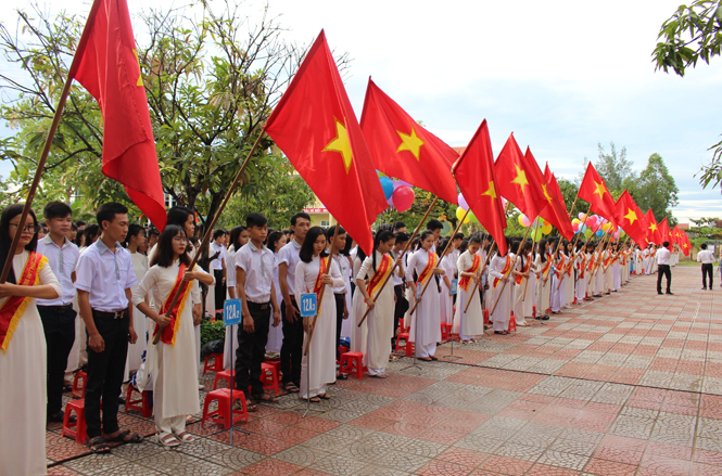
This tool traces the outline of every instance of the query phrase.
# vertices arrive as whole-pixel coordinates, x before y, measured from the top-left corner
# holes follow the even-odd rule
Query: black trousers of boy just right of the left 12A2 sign
[[[253,318],[253,333],[243,331],[243,322],[238,324],[238,349],[236,349],[236,388],[249,397],[263,395],[261,383],[261,364],[266,355],[268,343],[268,325],[270,321],[270,303],[256,304],[248,301],[249,312]]]

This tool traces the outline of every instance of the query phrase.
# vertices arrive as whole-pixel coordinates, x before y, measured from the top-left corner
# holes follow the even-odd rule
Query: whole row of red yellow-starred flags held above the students
[[[126,0],[93,2],[68,76],[100,104],[103,172],[123,183],[132,202],[162,230],[165,201]],[[359,124],[324,31],[268,118],[265,132],[367,254],[372,248],[370,224],[388,207],[376,169],[449,203],[457,203],[458,184],[504,254],[502,197],[528,217],[546,219],[567,239],[574,233],[548,164],[542,172],[531,151],[521,152],[514,134],[494,160],[483,120],[459,156],[370,78]],[[667,219],[657,224],[651,210],[643,216],[629,192],[615,202],[592,164],[579,197],[639,244],[670,239],[688,249],[688,241],[683,246],[686,234],[676,227],[670,231]]]

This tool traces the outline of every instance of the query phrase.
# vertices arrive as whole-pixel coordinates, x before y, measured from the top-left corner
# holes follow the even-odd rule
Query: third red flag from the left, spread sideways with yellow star
[[[360,127],[377,169],[443,201],[457,202],[452,164],[459,155],[419,126],[371,78],[368,79]]]

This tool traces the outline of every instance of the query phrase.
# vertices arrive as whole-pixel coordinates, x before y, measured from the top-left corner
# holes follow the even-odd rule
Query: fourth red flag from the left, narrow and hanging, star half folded
[[[502,255],[506,255],[506,215],[502,195],[496,190],[498,181],[494,176],[494,153],[486,119],[454,164],[452,172],[469,208],[492,235]]]

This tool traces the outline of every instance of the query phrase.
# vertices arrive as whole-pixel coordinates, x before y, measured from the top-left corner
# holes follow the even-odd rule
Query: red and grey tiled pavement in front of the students
[[[49,474],[721,475],[722,288],[700,291],[696,267],[673,270],[674,296],[657,296],[654,280],[456,344],[460,359],[417,369],[404,358],[387,379],[351,377],[305,417],[305,403],[282,397],[232,446],[219,426],[194,424],[199,438],[178,449],[151,437],[89,455],[52,426]]]

